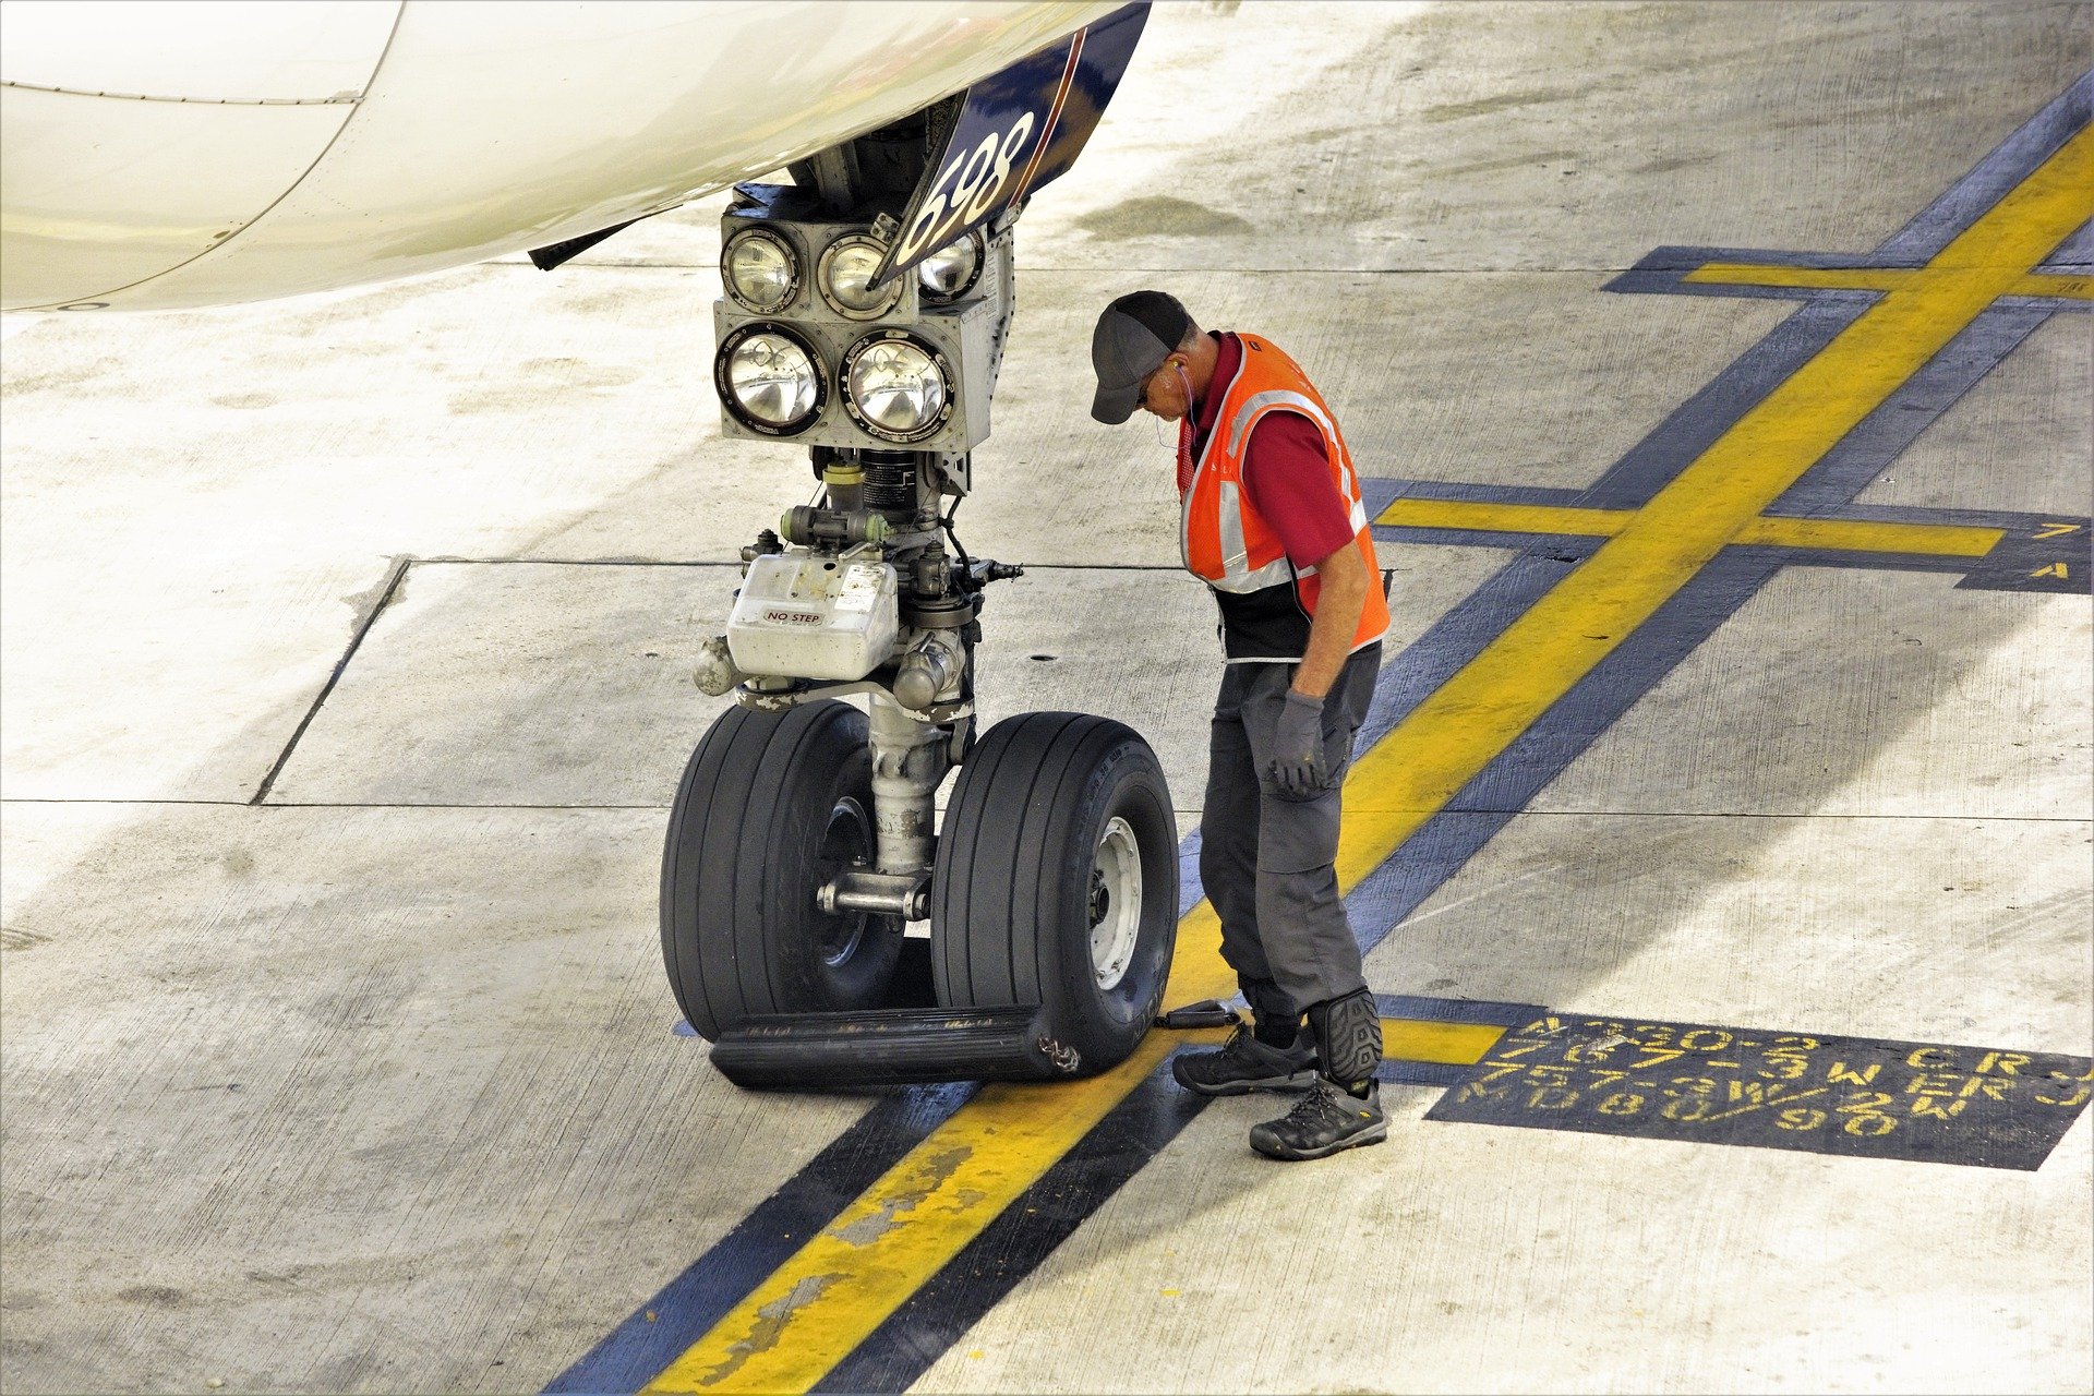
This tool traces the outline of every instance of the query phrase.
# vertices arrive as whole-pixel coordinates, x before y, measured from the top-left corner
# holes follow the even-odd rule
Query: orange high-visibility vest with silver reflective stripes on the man
[[[1359,498],[1359,473],[1338,435],[1338,419],[1309,383],[1292,358],[1269,339],[1238,335],[1244,354],[1235,377],[1221,385],[1221,410],[1215,429],[1194,463],[1191,486],[1181,496],[1179,555],[1185,569],[1223,592],[1254,592],[1292,582],[1302,611],[1315,617],[1315,601],[1323,580],[1315,567],[1294,569],[1279,544],[1279,534],[1258,517],[1244,494],[1244,452],[1250,429],[1267,412],[1298,412],[1323,435],[1323,458],[1330,463],[1338,498],[1353,515],[1353,538],[1367,561],[1367,573],[1380,582],[1374,559],[1374,536],[1367,527],[1367,504]],[[1208,391],[1215,391],[1210,385]],[[1353,649],[1365,649],[1388,630],[1388,601],[1380,586],[1367,586],[1367,603],[1353,632]]]

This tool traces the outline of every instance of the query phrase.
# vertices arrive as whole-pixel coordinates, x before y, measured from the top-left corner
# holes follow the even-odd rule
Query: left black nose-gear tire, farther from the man
[[[720,714],[683,770],[662,848],[662,963],[701,1038],[758,1013],[879,1007],[900,921],[815,904],[817,887],[871,856],[863,712]]]

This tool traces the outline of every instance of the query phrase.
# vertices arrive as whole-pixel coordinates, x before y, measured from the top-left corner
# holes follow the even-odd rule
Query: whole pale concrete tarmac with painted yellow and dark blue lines
[[[1097,308],[1269,335],[1376,481],[1342,871],[1413,1028],[1388,1145],[1298,1168],[1244,1145],[1284,1099],[1154,1061],[775,1097],[674,1032],[687,674],[808,494],[718,433],[720,199],[4,320],[0,1386],[2088,1390],[2090,67],[2090,4],[1156,6],[1020,224],[959,525],[1030,567],[986,716],[1135,724],[1189,831],[1219,649]],[[1646,611],[1579,590],[1705,534]],[[1602,1082],[1547,1021],[1792,1051]],[[955,1136],[1016,1201],[909,1172]]]

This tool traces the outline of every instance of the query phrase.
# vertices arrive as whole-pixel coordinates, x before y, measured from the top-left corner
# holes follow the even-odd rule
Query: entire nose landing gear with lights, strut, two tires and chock
[[[974,730],[984,592],[1022,569],[970,557],[953,515],[1022,197],[999,193],[1003,138],[946,151],[972,119],[953,98],[743,184],[720,226],[722,433],[810,446],[821,481],[741,550],[695,676],[737,705],[662,856],[670,986],[741,1084],[1101,1072],[1171,965],[1177,837],[1148,743],[1083,714]]]

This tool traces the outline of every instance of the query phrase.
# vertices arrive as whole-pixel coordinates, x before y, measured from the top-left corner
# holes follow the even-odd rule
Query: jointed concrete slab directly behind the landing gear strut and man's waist
[[[1390,657],[1495,569],[1474,548],[1390,563]],[[729,563],[417,563],[270,800],[664,808],[731,705],[691,684],[691,655],[739,582]],[[984,730],[1032,710],[1116,718],[1198,812],[1221,643],[1215,603],[1181,571],[1037,567],[990,592],[976,657]]]

